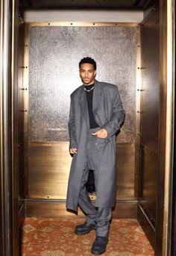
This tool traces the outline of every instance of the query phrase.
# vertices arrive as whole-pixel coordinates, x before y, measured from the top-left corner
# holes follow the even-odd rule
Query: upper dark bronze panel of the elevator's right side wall
[[[160,93],[159,12],[142,25],[142,144],[157,153]]]

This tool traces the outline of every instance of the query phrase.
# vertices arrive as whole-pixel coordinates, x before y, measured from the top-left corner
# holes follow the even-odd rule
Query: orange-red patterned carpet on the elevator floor
[[[74,233],[83,218],[26,218],[22,228],[22,256],[91,256],[95,231]],[[113,219],[104,256],[151,256],[154,251],[136,219]]]

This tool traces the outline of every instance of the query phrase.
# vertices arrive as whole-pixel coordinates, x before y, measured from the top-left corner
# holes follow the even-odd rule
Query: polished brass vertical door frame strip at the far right
[[[163,216],[163,255],[171,255],[172,234],[172,184],[173,184],[173,157],[174,157],[174,93],[175,93],[175,40],[173,9],[175,1],[167,0],[167,42],[166,42],[166,162],[164,188],[164,216]]]

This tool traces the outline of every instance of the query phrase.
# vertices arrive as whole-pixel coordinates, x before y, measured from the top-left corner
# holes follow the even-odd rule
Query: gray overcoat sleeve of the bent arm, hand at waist
[[[107,131],[109,137],[112,137],[119,131],[122,123],[125,119],[125,110],[123,110],[122,100],[120,98],[119,90],[117,87],[114,87],[113,92],[113,114],[110,118],[110,121],[106,122],[102,128]]]

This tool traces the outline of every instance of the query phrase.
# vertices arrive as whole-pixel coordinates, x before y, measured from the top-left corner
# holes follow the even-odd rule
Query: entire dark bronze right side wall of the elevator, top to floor
[[[157,209],[160,18],[159,8],[142,22],[141,169],[138,218],[154,246]],[[145,221],[143,220],[145,218]],[[151,228],[148,228],[151,226]]]

